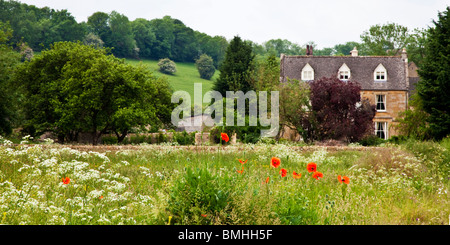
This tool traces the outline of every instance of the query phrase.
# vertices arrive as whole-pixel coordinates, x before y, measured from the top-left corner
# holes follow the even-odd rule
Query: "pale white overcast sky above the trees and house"
[[[67,9],[78,22],[97,11],[115,10],[130,20],[170,15],[208,35],[263,43],[287,39],[318,48],[360,41],[376,24],[397,23],[410,29],[432,26],[448,0],[19,0],[22,3]]]

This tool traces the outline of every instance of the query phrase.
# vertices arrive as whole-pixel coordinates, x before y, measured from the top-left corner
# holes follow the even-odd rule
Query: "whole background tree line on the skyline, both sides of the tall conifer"
[[[95,40],[121,58],[169,58],[174,61],[195,62],[202,54],[214,61],[215,67],[225,58],[229,45],[222,36],[211,37],[187,27],[182,21],[164,16],[160,19],[129,20],[116,11],[96,12],[87,22],[77,23],[67,10],[37,8],[17,1],[0,0],[0,21],[9,22],[14,30],[11,43],[25,42],[34,51],[48,48],[59,41]],[[357,47],[360,55],[396,55],[407,48],[409,58],[420,64],[424,57],[427,30],[395,24],[374,25],[361,34],[361,40],[317,48],[309,41],[303,45],[286,39],[271,39],[262,44],[248,41],[255,55],[303,55],[306,45],[314,55],[348,55]]]

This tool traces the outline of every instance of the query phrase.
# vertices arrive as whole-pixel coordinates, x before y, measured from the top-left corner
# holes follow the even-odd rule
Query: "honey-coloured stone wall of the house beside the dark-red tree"
[[[405,111],[408,106],[407,91],[361,91],[361,97],[367,98],[370,104],[376,105],[376,95],[386,95],[386,111],[377,112],[374,122],[388,123],[388,137],[398,135],[393,125],[397,123],[400,112]]]

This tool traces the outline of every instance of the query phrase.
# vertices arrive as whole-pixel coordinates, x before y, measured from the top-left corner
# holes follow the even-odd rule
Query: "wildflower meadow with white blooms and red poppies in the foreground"
[[[448,225],[449,145],[78,147],[0,139],[0,223]]]

